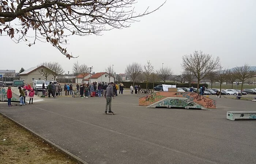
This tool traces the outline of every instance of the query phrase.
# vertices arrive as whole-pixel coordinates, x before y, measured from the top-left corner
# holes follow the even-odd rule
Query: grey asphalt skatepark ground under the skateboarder
[[[140,95],[139,95],[140,96]],[[251,101],[215,98],[217,109],[139,106],[138,95],[44,98],[33,105],[0,104],[0,113],[87,163],[255,163],[256,120],[230,121],[226,111],[256,110]]]

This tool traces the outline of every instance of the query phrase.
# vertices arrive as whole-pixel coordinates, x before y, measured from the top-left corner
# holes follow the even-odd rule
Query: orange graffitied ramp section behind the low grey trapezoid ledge
[[[186,98],[186,99],[194,102],[196,105],[200,105],[202,108],[216,108],[215,100],[208,98],[208,97],[204,97],[203,95],[197,94],[195,92],[159,91],[157,93],[152,93],[152,94],[149,94],[149,95],[139,98],[139,105],[148,106],[148,105],[154,104],[156,102],[160,102],[160,101],[162,102],[162,100],[165,98],[167,98],[167,99]],[[166,100],[166,102],[167,102],[167,100]]]

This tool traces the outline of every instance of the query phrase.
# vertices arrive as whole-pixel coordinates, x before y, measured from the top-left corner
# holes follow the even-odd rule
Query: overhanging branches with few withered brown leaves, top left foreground
[[[9,35],[16,43],[24,40],[28,46],[36,40],[47,41],[68,59],[75,58],[60,46],[67,44],[68,36],[100,35],[102,31],[129,27],[136,18],[163,5],[136,14],[135,3],[136,0],[1,0],[0,34]],[[13,21],[16,18],[20,23]]]

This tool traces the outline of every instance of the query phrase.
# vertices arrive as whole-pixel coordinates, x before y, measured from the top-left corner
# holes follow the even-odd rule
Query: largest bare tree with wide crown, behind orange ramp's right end
[[[219,57],[214,59],[212,55],[205,54],[203,51],[195,51],[193,54],[183,55],[181,65],[184,70],[191,71],[197,78],[198,93],[200,80],[218,68]]]

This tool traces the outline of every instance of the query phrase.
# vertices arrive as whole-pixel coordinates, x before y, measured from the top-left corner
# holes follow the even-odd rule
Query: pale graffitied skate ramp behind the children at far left
[[[0,101],[8,101],[7,99],[7,89],[8,87],[1,87],[0,88]],[[27,94],[29,95],[29,91],[27,91]],[[19,102],[19,89],[18,87],[12,87],[12,99],[11,101],[17,101]],[[34,95],[33,102],[38,101],[44,101],[41,97],[38,97],[37,95]],[[29,102],[29,98],[26,97],[26,102]]]

